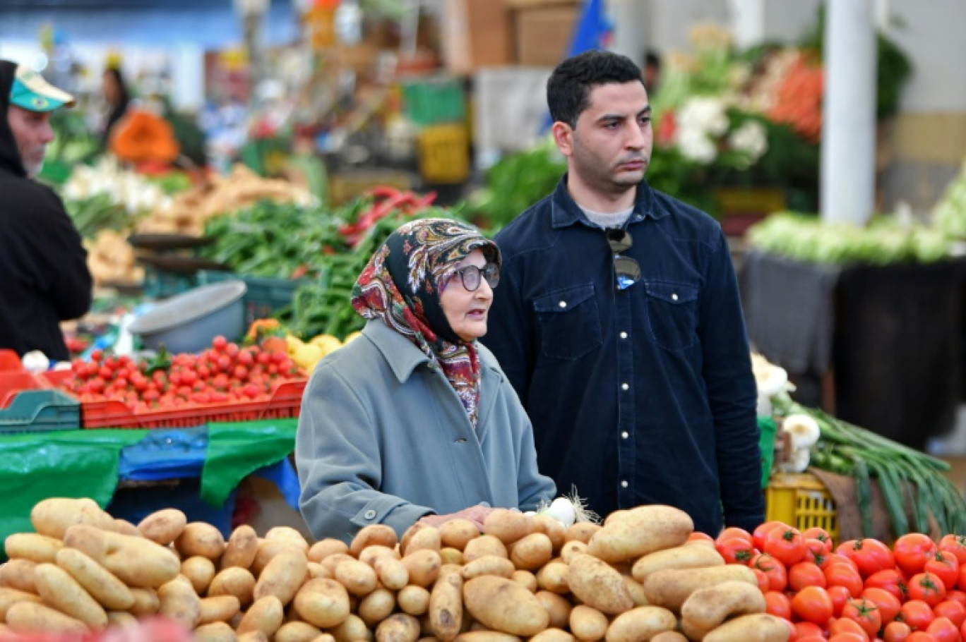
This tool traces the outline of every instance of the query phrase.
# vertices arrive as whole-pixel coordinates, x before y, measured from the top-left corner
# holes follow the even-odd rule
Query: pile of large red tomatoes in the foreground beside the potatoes
[[[966,538],[922,533],[833,547],[821,528],[769,521],[715,540],[729,564],[758,578],[768,612],[792,642],[960,642],[966,639]]]

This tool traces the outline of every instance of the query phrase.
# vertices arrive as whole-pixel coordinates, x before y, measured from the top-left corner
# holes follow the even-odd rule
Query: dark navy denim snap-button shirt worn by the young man
[[[641,280],[620,291],[605,233],[566,180],[497,234],[483,338],[530,416],[540,471],[602,516],[669,504],[710,535],[753,529],[756,391],[721,227],[642,181],[624,253]]]

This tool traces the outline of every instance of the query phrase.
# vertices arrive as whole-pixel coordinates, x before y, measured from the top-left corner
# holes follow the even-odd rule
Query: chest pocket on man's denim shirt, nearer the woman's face
[[[604,344],[592,283],[536,296],[533,310],[546,356],[576,360]]]

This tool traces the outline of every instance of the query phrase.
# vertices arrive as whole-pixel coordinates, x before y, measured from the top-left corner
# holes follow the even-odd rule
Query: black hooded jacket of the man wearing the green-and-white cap
[[[90,309],[91,273],[64,204],[20,160],[7,121],[15,69],[0,61],[0,349],[67,360],[60,321]]]

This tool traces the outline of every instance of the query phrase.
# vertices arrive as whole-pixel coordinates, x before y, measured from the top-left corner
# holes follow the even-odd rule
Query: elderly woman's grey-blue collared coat
[[[296,436],[299,506],[316,538],[348,542],[380,523],[401,536],[431,513],[529,511],[554,498],[523,405],[490,350],[476,346],[475,431],[440,369],[383,321],[319,363]]]

